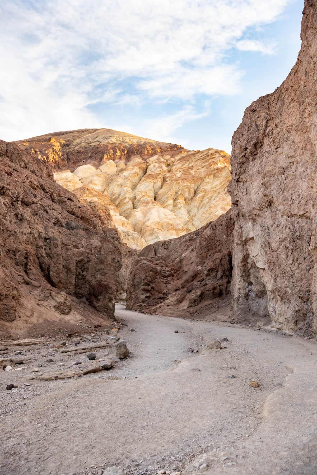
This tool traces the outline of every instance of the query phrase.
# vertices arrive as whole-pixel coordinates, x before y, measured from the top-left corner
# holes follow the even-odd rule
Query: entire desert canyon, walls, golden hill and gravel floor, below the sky
[[[0,473],[317,473],[317,3],[232,154],[0,141]]]

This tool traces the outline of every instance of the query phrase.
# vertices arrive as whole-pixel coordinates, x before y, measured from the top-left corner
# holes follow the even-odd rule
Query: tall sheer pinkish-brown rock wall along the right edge
[[[317,333],[317,4],[306,0],[298,60],[245,111],[232,138],[236,312]]]

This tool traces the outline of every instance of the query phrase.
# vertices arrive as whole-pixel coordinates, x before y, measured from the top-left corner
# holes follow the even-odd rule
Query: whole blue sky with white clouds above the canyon
[[[0,4],[0,139],[109,128],[231,152],[300,49],[303,0]]]

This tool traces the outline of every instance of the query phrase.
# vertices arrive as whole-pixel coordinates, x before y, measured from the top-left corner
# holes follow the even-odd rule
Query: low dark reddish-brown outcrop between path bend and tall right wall
[[[132,265],[127,308],[187,316],[227,296],[232,229],[228,211],[197,231],[144,247]]]

